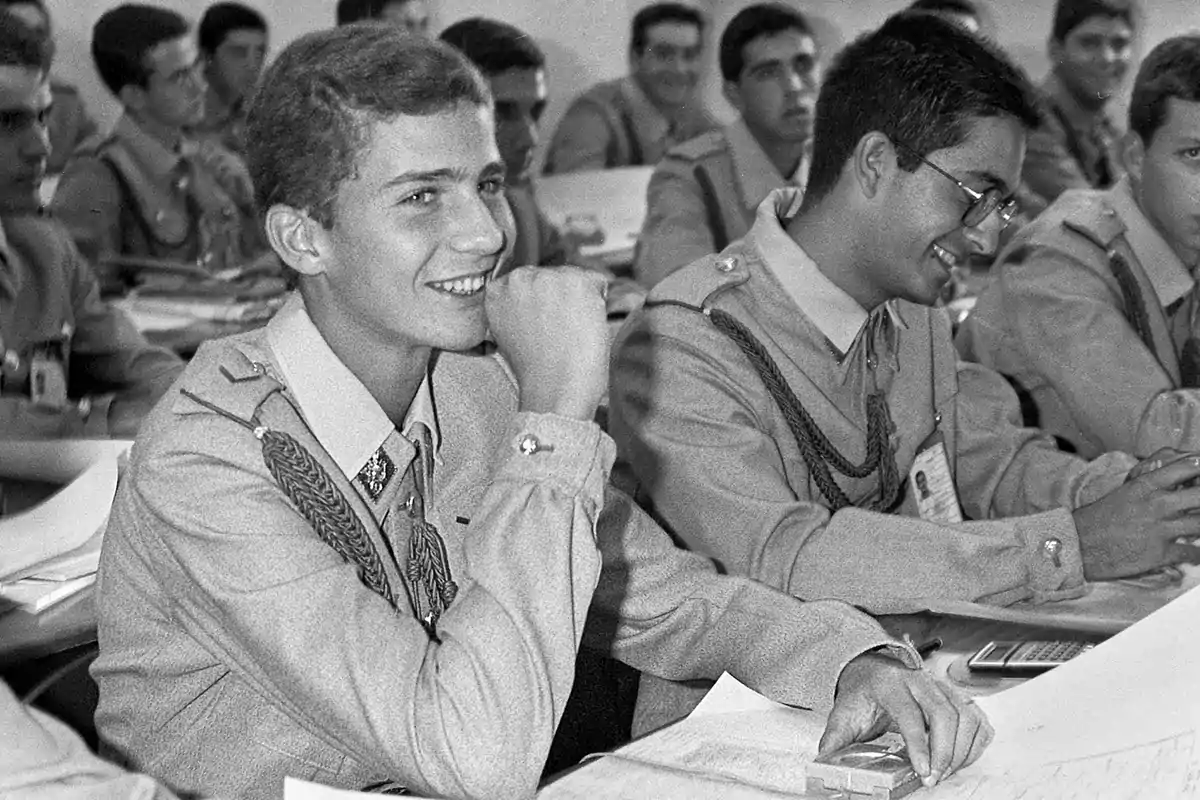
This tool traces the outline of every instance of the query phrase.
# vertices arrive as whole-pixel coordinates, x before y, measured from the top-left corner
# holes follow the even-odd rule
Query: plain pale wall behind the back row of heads
[[[152,0],[154,1],[154,0]],[[271,25],[271,50],[307,31],[334,24],[335,0],[241,0],[260,11]],[[626,70],[629,20],[650,0],[430,0],[434,30],[473,14],[503,19],[528,31],[547,55],[551,102],[544,134],[548,137],[570,98],[592,83],[619,76]],[[102,125],[116,119],[119,109],[96,77],[89,53],[91,26],[114,0],[46,0],[59,42],[55,72],[77,84]],[[712,20],[704,97],[720,116],[732,115],[720,96],[715,68],[716,38],[725,23],[750,0],[692,0]],[[878,25],[900,11],[907,0],[805,0],[792,5],[814,18],[826,56],[859,32]],[[1144,0],[1139,50],[1147,52],[1163,38],[1200,30],[1198,0]],[[205,7],[188,0],[156,0],[196,23]],[[1045,40],[1050,31],[1054,0],[990,0],[996,40],[1034,79],[1048,68]],[[1130,76],[1132,78],[1132,76]],[[1126,90],[1128,92],[1128,88]],[[1118,103],[1123,116],[1124,100]]]

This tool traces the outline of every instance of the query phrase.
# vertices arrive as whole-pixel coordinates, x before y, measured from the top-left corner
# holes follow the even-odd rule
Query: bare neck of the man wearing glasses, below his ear
[[[786,233],[804,248],[823,276],[870,312],[887,297],[878,296],[862,277],[868,254],[863,242],[847,231],[846,219],[853,217],[854,213],[830,194],[792,218]]]

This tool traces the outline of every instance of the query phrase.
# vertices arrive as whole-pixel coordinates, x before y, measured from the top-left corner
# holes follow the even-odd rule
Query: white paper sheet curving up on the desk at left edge
[[[108,452],[53,497],[0,517],[0,581],[80,548],[108,519],[116,492],[116,457]]]

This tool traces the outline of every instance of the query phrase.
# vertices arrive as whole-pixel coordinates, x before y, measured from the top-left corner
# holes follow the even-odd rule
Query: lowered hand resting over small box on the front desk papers
[[[868,652],[841,670],[820,752],[871,741],[889,730],[904,738],[925,786],[979,758],[994,734],[984,712],[949,685],[924,669]]]

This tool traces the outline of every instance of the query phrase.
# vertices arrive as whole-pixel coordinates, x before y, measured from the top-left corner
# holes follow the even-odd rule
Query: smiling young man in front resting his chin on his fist
[[[529,796],[587,638],[832,705],[827,747],[890,721],[931,782],[978,756],[982,714],[911,648],[718,575],[606,488],[604,281],[487,279],[491,109],[461,54],[385,25],[268,68],[247,152],[299,293],[202,347],[133,447],[98,582],[110,751],[187,794]],[[506,359],[458,353],[488,330]]]

